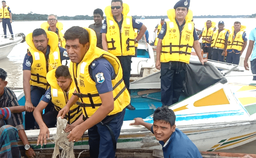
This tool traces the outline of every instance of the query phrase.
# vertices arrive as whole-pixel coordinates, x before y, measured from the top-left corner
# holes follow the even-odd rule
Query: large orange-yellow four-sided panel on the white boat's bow
[[[222,89],[214,92],[200,100],[197,100],[194,103],[195,107],[202,107],[202,106],[214,106],[214,105],[223,105],[223,104],[230,104],[227,96]]]

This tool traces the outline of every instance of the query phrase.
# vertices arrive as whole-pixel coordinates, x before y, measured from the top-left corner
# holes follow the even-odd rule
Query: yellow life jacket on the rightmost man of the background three
[[[241,51],[244,46],[244,39],[242,38],[244,34],[244,29],[246,29],[245,25],[241,25],[240,31],[237,32],[235,39],[233,40],[234,36],[234,26],[232,26],[232,31],[229,33],[229,39],[227,40],[227,49],[234,49]]]

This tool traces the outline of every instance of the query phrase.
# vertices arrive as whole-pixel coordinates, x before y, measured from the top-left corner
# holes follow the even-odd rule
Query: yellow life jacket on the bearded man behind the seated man
[[[35,48],[32,38],[32,33],[26,36],[26,42],[29,45],[27,52],[30,52],[33,57],[31,65],[30,85],[48,89],[49,84],[46,81],[46,74],[61,66],[60,49],[58,47],[58,36],[52,31],[45,31],[49,39],[50,54],[46,61],[45,54]]]

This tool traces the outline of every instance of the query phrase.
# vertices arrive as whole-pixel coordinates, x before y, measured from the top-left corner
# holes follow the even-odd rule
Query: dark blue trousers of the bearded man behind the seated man
[[[37,86],[30,86],[30,96],[31,96],[31,102],[34,107],[37,107],[41,97],[45,94],[46,90],[41,87]],[[46,110],[50,111],[50,110]],[[46,113],[45,111],[45,113]],[[26,112],[25,113],[25,129],[35,129],[35,118],[33,116],[33,112]]]

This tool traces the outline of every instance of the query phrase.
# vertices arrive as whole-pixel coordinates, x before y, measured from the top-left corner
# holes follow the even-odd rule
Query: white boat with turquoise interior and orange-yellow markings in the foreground
[[[195,59],[196,60],[196,59]],[[185,93],[180,102],[170,106],[176,114],[176,127],[187,134],[200,151],[230,149],[256,140],[256,86],[241,76],[236,82],[227,80],[213,64],[202,66],[191,61],[187,65]],[[237,71],[243,75],[244,71]],[[161,149],[154,135],[142,126],[129,126],[132,119],[144,118],[153,123],[153,112],[160,101],[160,72],[131,83],[131,104],[136,110],[126,110],[125,121],[117,141],[118,150]],[[25,99],[16,91],[20,105]],[[56,128],[51,128],[46,145],[36,146],[39,130],[26,131],[33,149],[53,150]],[[19,142],[21,146],[22,143]],[[88,150],[88,134],[74,143],[74,150]]]

